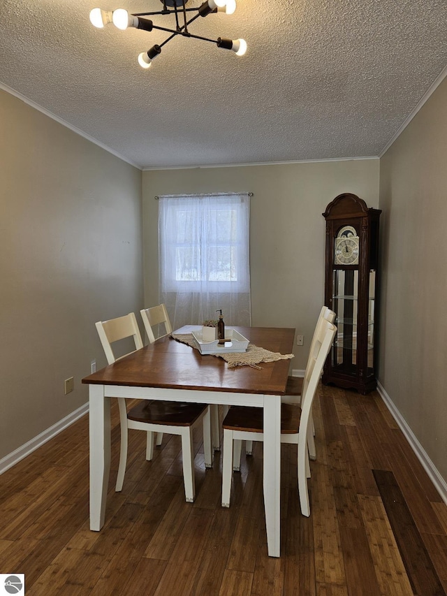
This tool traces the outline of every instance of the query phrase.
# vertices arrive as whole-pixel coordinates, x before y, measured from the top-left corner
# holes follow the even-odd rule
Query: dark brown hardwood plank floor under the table
[[[279,559],[267,555],[261,444],[222,509],[220,454],[205,472],[200,428],[193,504],[178,437],[146,462],[144,433],[131,430],[115,493],[115,403],[112,413],[101,532],[89,530],[88,416],[0,477],[0,573],[24,573],[27,596],[446,595],[447,507],[376,393],[319,388],[309,518],[296,448],[282,446]]]

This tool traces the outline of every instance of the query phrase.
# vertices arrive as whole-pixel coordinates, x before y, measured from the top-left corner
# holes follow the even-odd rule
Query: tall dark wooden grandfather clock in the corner
[[[376,388],[380,214],[350,193],[335,197],[323,213],[325,305],[337,314],[323,383],[363,394]]]

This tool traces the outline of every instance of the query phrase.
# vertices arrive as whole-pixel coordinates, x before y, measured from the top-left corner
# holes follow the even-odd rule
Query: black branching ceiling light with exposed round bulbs
[[[134,13],[130,14],[124,8],[117,8],[117,10],[103,10],[102,8],[94,8],[90,12],[90,22],[94,27],[102,29],[106,24],[113,23],[118,29],[127,29],[128,27],[135,27],[135,29],[143,29],[144,31],[152,31],[158,29],[159,31],[167,31],[170,36],[166,38],[160,45],[153,45],[147,52],[141,52],[138,56],[138,64],[142,68],[149,68],[152,60],[156,58],[163,45],[168,41],[180,35],[194,39],[201,39],[203,41],[210,41],[217,44],[218,48],[224,50],[233,50],[237,56],[243,56],[247,50],[247,43],[244,39],[226,39],[219,37],[217,39],[209,39],[200,35],[193,35],[189,32],[189,25],[198,17],[206,17],[210,13],[223,12],[227,15],[232,15],[236,9],[235,0],[205,0],[197,8],[186,8],[188,0],[161,0],[163,10],[155,10],[152,13]],[[188,18],[190,13],[196,13],[191,18]],[[175,29],[168,27],[160,27],[154,24],[152,20],[145,17],[153,15],[174,15]]]

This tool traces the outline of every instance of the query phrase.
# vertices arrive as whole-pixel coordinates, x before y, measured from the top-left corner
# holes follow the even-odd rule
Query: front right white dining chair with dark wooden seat
[[[302,383],[301,404],[281,403],[281,443],[298,444],[298,493],[301,512],[307,517],[310,515],[309,492],[307,490],[307,478],[310,477],[307,435],[310,428],[312,402],[336,331],[335,325],[329,321],[321,322]],[[240,458],[242,440],[263,441],[263,409],[230,407],[222,426],[222,507],[229,507],[233,456],[235,466],[240,466],[240,460],[237,462],[237,457]]]

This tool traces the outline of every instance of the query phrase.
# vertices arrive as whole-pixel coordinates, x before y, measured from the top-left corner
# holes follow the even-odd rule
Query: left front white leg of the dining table
[[[110,399],[103,385],[89,385],[90,530],[104,525],[110,472]]]

